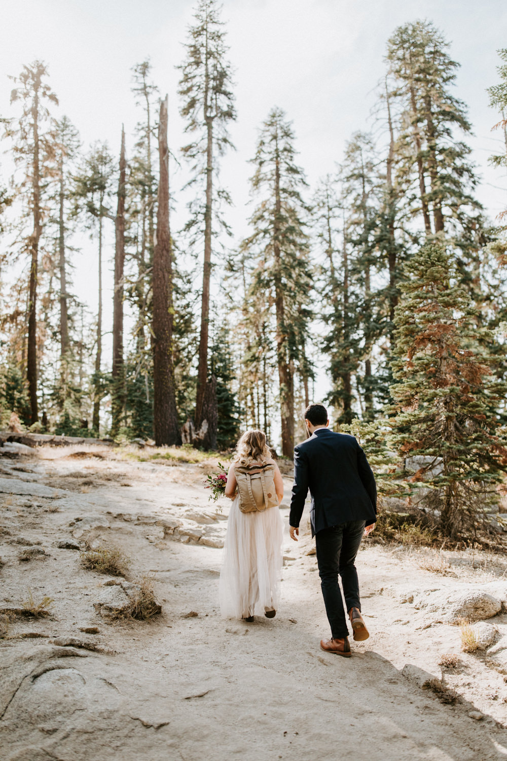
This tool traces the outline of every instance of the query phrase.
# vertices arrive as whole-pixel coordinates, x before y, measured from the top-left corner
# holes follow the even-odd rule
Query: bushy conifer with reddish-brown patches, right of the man
[[[507,441],[496,408],[505,384],[491,373],[486,331],[458,283],[455,256],[440,240],[426,243],[405,267],[395,311],[395,400],[391,446],[417,457],[410,482],[439,515],[448,537],[476,525],[507,467]],[[414,483],[415,482],[415,483]]]

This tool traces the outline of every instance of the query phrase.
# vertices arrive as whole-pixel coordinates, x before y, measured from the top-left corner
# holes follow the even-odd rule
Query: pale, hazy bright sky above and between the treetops
[[[0,0],[0,116],[17,114],[9,104],[8,75],[43,59],[59,97],[56,113],[71,119],[84,147],[106,140],[117,153],[123,123],[128,153],[140,117],[130,90],[131,69],[149,56],[160,94],[169,94],[170,146],[177,156],[185,135],[175,67],[184,56],[193,7],[192,0]],[[487,165],[499,135],[491,132],[498,119],[486,94],[498,79],[496,50],[507,47],[505,0],[224,0],[238,118],[230,129],[236,151],[223,158],[220,180],[233,197],[227,212],[233,240],[248,232],[248,162],[271,108],[281,107],[293,121],[299,165],[314,186],[334,170],[354,131],[375,129],[382,137],[370,115],[385,73],[386,42],[398,25],[420,18],[442,30],[461,64],[455,94],[467,103],[474,129],[467,142],[483,177],[477,195],[491,216],[505,208],[507,180]],[[7,141],[3,145],[8,148]],[[0,154],[0,169],[7,177],[11,173],[8,156]],[[177,229],[185,222],[181,188],[188,174],[174,161],[171,171]],[[75,290],[94,310],[94,249],[86,240],[78,244]],[[112,244],[110,231],[109,260]],[[111,280],[108,264],[107,304]]]

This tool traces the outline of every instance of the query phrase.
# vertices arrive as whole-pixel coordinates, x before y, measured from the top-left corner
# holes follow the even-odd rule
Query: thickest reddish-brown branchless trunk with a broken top
[[[173,365],[173,251],[169,223],[167,96],[160,102],[158,126],[160,180],[157,243],[153,266],[154,435],[157,447],[181,444]]]

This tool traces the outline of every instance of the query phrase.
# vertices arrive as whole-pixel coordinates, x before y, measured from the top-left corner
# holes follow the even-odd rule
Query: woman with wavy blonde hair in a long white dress
[[[269,469],[277,496],[273,501],[280,505],[284,482],[277,464],[271,459],[262,431],[246,431],[239,439],[225,489],[225,495],[233,500],[233,505],[227,521],[220,571],[220,612],[224,618],[242,618],[248,622],[254,620],[254,615],[273,618],[276,613],[284,533],[276,504],[261,511],[243,512],[240,509],[236,468],[246,470],[252,463],[254,467],[257,463],[259,466],[274,466]],[[239,470],[237,475],[241,477]]]

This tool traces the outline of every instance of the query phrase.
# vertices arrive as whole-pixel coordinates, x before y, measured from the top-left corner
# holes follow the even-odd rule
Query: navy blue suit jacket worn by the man
[[[312,495],[310,521],[315,533],[348,521],[376,521],[375,476],[353,436],[317,428],[294,447],[294,486],[290,525],[299,526],[308,490]]]

